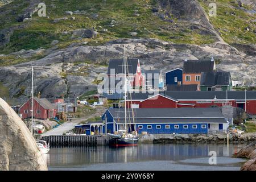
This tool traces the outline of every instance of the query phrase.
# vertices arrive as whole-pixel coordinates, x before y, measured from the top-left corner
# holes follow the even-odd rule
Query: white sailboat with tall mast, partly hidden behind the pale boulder
[[[32,67],[32,79],[31,79],[31,134],[33,135],[34,130],[34,67]],[[42,154],[49,152],[49,143],[47,144],[44,140],[36,140],[36,144]]]

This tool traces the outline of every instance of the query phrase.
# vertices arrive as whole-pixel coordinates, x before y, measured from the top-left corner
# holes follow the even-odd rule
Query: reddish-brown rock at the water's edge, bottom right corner
[[[256,171],[256,142],[251,142],[237,153],[238,158],[248,158],[241,171]]]

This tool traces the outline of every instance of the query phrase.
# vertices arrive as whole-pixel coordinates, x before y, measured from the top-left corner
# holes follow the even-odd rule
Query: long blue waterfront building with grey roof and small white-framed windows
[[[131,112],[131,110],[130,110]],[[217,107],[133,109],[127,129],[139,134],[207,134],[226,131],[229,123]],[[128,114],[127,114],[128,115]],[[125,129],[124,109],[107,109],[102,115],[108,133]]]

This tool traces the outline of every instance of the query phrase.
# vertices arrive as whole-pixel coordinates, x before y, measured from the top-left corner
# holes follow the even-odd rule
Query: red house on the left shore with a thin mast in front
[[[46,98],[34,97],[34,118],[36,119],[49,119],[56,117],[57,109]],[[23,104],[19,113],[22,115],[22,119],[31,118],[31,98],[25,104]]]

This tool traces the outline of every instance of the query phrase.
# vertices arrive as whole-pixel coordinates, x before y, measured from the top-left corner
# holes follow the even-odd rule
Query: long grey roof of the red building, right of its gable
[[[226,99],[226,91],[166,92],[166,95],[177,100],[212,100],[214,97],[218,100]],[[245,91],[228,91],[228,99],[245,100]],[[256,100],[256,91],[247,91],[246,99]]]

